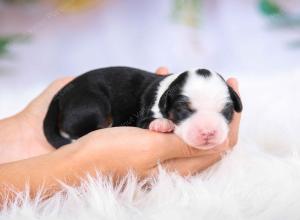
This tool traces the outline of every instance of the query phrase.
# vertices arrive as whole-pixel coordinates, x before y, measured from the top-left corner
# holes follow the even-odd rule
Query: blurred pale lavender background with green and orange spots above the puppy
[[[0,117],[58,77],[115,65],[300,74],[300,1],[0,0]]]

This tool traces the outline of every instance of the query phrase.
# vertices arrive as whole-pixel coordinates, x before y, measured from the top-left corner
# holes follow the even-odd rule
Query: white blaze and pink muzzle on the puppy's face
[[[230,96],[220,76],[211,72],[210,76],[204,77],[190,71],[182,94],[189,98],[195,112],[177,125],[174,132],[187,144],[202,149],[225,141],[228,124],[221,111]]]

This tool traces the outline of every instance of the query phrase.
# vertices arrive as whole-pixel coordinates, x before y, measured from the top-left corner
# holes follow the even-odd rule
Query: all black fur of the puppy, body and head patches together
[[[211,73],[207,71],[201,69],[197,73],[209,77]],[[157,99],[157,88],[165,77],[135,68],[108,67],[75,78],[50,103],[43,125],[47,140],[59,148],[71,142],[60,131],[77,139],[109,125],[148,128],[155,119],[151,108]],[[180,74],[159,100],[161,114],[175,124],[195,112],[189,98],[182,95],[187,77],[188,72]],[[230,122],[233,109],[242,111],[242,103],[229,86],[228,91],[231,101],[222,114]]]

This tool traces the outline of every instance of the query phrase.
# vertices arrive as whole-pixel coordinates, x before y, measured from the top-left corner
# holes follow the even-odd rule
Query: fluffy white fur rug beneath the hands
[[[300,219],[299,84],[297,73],[241,78],[239,144],[196,177],[161,171],[145,192],[132,176],[123,191],[99,176],[45,202],[20,194],[0,219]]]

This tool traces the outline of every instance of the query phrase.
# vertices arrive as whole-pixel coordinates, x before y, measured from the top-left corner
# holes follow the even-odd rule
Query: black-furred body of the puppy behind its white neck
[[[70,143],[60,130],[77,139],[110,122],[113,127],[147,128],[152,117],[149,106],[164,78],[128,67],[97,69],[75,78],[50,104],[44,120],[47,140],[58,148]]]

